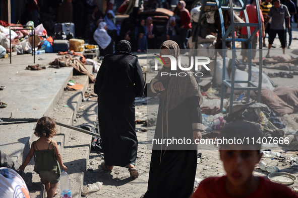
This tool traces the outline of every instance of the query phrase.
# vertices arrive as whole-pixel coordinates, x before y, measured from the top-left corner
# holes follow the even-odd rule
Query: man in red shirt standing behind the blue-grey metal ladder
[[[261,3],[261,0],[259,0],[259,4]],[[253,24],[258,23],[258,15],[257,15],[257,7],[256,7],[256,0],[252,0],[250,5],[246,6],[247,15],[249,18],[249,22]],[[243,11],[240,13],[240,17],[243,18]],[[260,15],[261,15],[261,21],[262,21],[262,36],[265,37],[265,27],[264,27],[264,18],[262,11],[260,9]],[[251,27],[251,34],[255,31],[256,27]],[[247,27],[243,27],[241,29],[241,38],[247,39]],[[256,57],[256,51],[257,51],[257,43],[259,38],[259,31],[256,33],[254,38],[252,39],[252,59],[255,59]],[[241,43],[241,55],[242,55],[242,61],[248,61],[248,42],[242,42]]]

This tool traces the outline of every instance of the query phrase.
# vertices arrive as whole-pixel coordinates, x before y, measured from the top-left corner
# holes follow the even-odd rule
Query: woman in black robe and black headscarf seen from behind
[[[104,57],[94,92],[98,95],[99,132],[104,153],[101,166],[108,171],[113,166],[127,167],[131,177],[138,177],[135,97],[142,94],[144,79],[138,57],[130,52],[130,42],[122,40],[114,54]]]

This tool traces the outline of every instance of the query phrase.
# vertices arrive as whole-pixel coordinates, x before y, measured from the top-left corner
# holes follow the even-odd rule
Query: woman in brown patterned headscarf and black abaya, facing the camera
[[[178,63],[178,44],[174,41],[163,42],[161,55],[171,55]],[[202,138],[201,131],[204,130],[200,110],[202,95],[194,75],[177,75],[183,70],[178,67],[171,70],[171,60],[168,57],[163,59],[162,69],[147,84],[147,95],[159,93],[160,97],[154,134],[157,141],[152,142],[148,190],[144,198],[189,197],[193,192],[197,168],[195,142]],[[191,143],[167,144],[162,143],[162,139],[186,139]]]

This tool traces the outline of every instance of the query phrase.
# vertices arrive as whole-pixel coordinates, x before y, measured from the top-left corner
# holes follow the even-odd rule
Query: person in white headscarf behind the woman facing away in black
[[[113,53],[114,42],[112,38],[107,34],[107,25],[105,22],[100,22],[98,28],[93,34],[93,38],[97,45],[99,45],[99,55],[105,56]]]

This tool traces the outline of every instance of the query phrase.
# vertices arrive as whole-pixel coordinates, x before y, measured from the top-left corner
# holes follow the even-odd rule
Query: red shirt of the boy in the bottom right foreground
[[[260,184],[258,189],[246,198],[256,198],[256,197],[287,197],[294,198],[298,195],[293,192],[290,188],[279,184],[273,183],[268,179],[263,177],[260,178]],[[199,187],[194,192],[194,198],[233,198],[225,190],[225,180],[226,176],[222,177],[209,177],[201,181]]]

